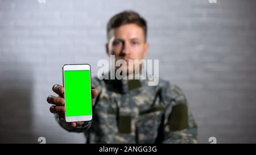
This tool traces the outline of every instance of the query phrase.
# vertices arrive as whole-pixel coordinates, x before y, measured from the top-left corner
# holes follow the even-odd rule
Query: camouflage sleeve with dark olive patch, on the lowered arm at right
[[[168,85],[164,89],[163,143],[198,143],[197,125],[183,91],[176,85]]]

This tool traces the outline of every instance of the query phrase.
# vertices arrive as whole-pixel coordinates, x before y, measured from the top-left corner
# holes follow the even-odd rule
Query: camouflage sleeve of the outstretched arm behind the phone
[[[98,94],[101,93],[102,84],[101,84],[101,81],[97,77],[92,78],[92,89],[98,89]],[[97,102],[97,97],[92,99],[92,106],[93,107],[95,106],[96,102]],[[92,121],[90,121],[90,122],[85,122],[84,124],[82,124],[81,127],[75,127],[74,128],[74,127],[71,127],[64,120],[60,120],[59,116],[57,114],[55,114],[55,119],[56,119],[57,123],[59,123],[59,125],[62,128],[64,128],[65,130],[67,130],[68,132],[86,132],[92,126]]]

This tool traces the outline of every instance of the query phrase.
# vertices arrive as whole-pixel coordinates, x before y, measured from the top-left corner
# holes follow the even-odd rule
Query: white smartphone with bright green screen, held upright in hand
[[[65,121],[92,120],[92,93],[89,64],[63,65]]]

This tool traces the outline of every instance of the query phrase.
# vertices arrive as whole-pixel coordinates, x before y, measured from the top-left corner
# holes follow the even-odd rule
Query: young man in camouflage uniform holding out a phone
[[[109,56],[126,62],[146,56],[147,24],[137,12],[114,15],[107,30]],[[138,74],[134,68],[140,67],[128,63],[127,74]],[[147,82],[148,79],[92,78],[90,122],[65,122],[61,85],[52,87],[59,97],[49,95],[47,102],[54,104],[50,111],[60,126],[69,132],[83,132],[87,143],[197,143],[197,125],[183,91],[163,79],[156,86],[148,86]]]

